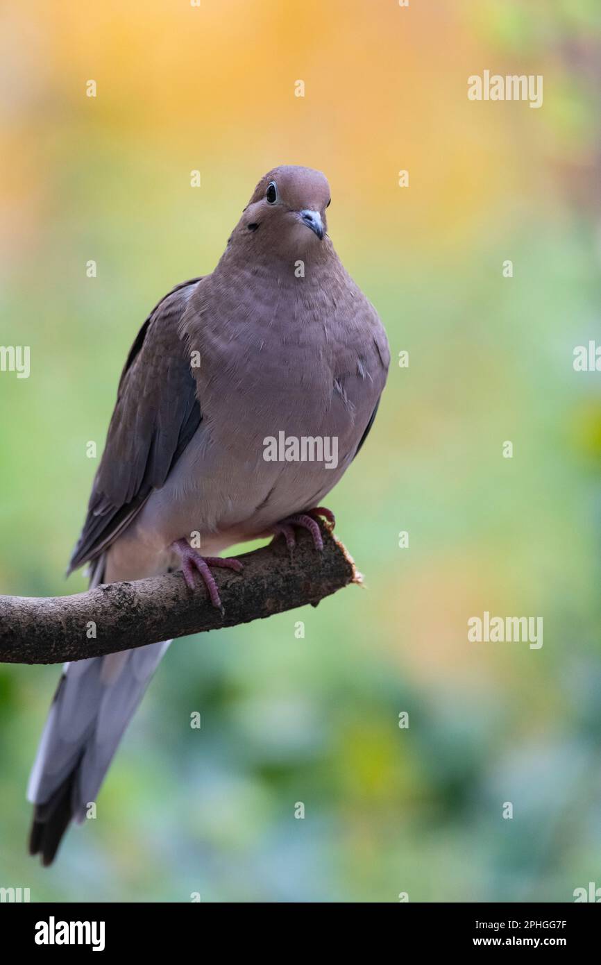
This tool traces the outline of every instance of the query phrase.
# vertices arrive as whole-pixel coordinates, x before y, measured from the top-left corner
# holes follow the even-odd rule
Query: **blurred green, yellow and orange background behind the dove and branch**
[[[96,821],[49,870],[25,854],[24,794],[59,669],[0,669],[0,886],[82,901],[600,886],[601,375],[572,365],[601,339],[598,4],[0,15],[0,345],[31,346],[29,379],[0,373],[0,592],[85,587],[62,574],[129,345],[165,291],[212,268],[270,167],[327,174],[330,234],[393,355],[327,500],[366,588],[176,643]],[[468,101],[483,69],[542,74],[543,106]],[[542,617],[543,647],[468,643],[484,610]]]

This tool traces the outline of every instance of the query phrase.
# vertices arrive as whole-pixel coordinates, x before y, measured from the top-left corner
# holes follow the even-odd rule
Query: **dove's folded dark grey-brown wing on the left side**
[[[167,476],[202,415],[178,323],[200,279],[170,291],[152,310],[131,347],[90,496],[88,515],[68,572],[113,542]]]

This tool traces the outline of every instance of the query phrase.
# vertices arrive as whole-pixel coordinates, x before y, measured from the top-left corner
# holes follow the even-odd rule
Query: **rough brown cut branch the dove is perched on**
[[[199,580],[198,592],[181,573],[107,583],[71,596],[0,596],[0,662],[46,664],[116,653],[159,640],[261,620],[285,610],[317,605],[349,583],[360,583],[352,559],[325,524],[323,552],[309,534],[297,535],[290,558],[276,539],[238,559],[240,574],[213,570],[224,616],[211,606]],[[89,637],[92,625],[96,637]]]

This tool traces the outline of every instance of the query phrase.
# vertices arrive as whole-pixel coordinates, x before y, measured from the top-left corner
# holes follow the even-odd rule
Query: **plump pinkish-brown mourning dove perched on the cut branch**
[[[269,171],[214,271],[145,321],[69,565],[90,564],[91,586],[181,568],[220,607],[211,567],[241,569],[219,557],[228,546],[292,547],[304,527],[320,548],[316,515],[333,517],[319,504],[363,445],[390,360],[327,234],[329,204],[320,172]],[[44,865],[86,816],[168,646],[66,665],[28,788]]]

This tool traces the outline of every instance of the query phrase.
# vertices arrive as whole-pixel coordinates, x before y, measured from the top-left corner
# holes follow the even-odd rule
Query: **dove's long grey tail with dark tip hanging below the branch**
[[[94,583],[94,581],[93,581]],[[123,731],[171,641],[68,663],[54,695],[27,797],[31,854],[50,865],[71,820],[89,813]]]

